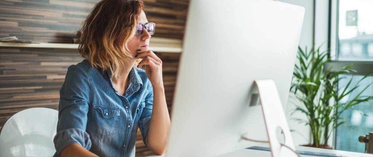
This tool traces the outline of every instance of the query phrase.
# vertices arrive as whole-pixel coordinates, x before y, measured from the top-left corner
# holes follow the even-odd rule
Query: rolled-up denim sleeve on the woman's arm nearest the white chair
[[[87,72],[79,65],[70,66],[60,90],[59,121],[53,140],[58,154],[73,143],[87,150],[91,148],[90,137],[85,132],[89,100],[90,80]]]

